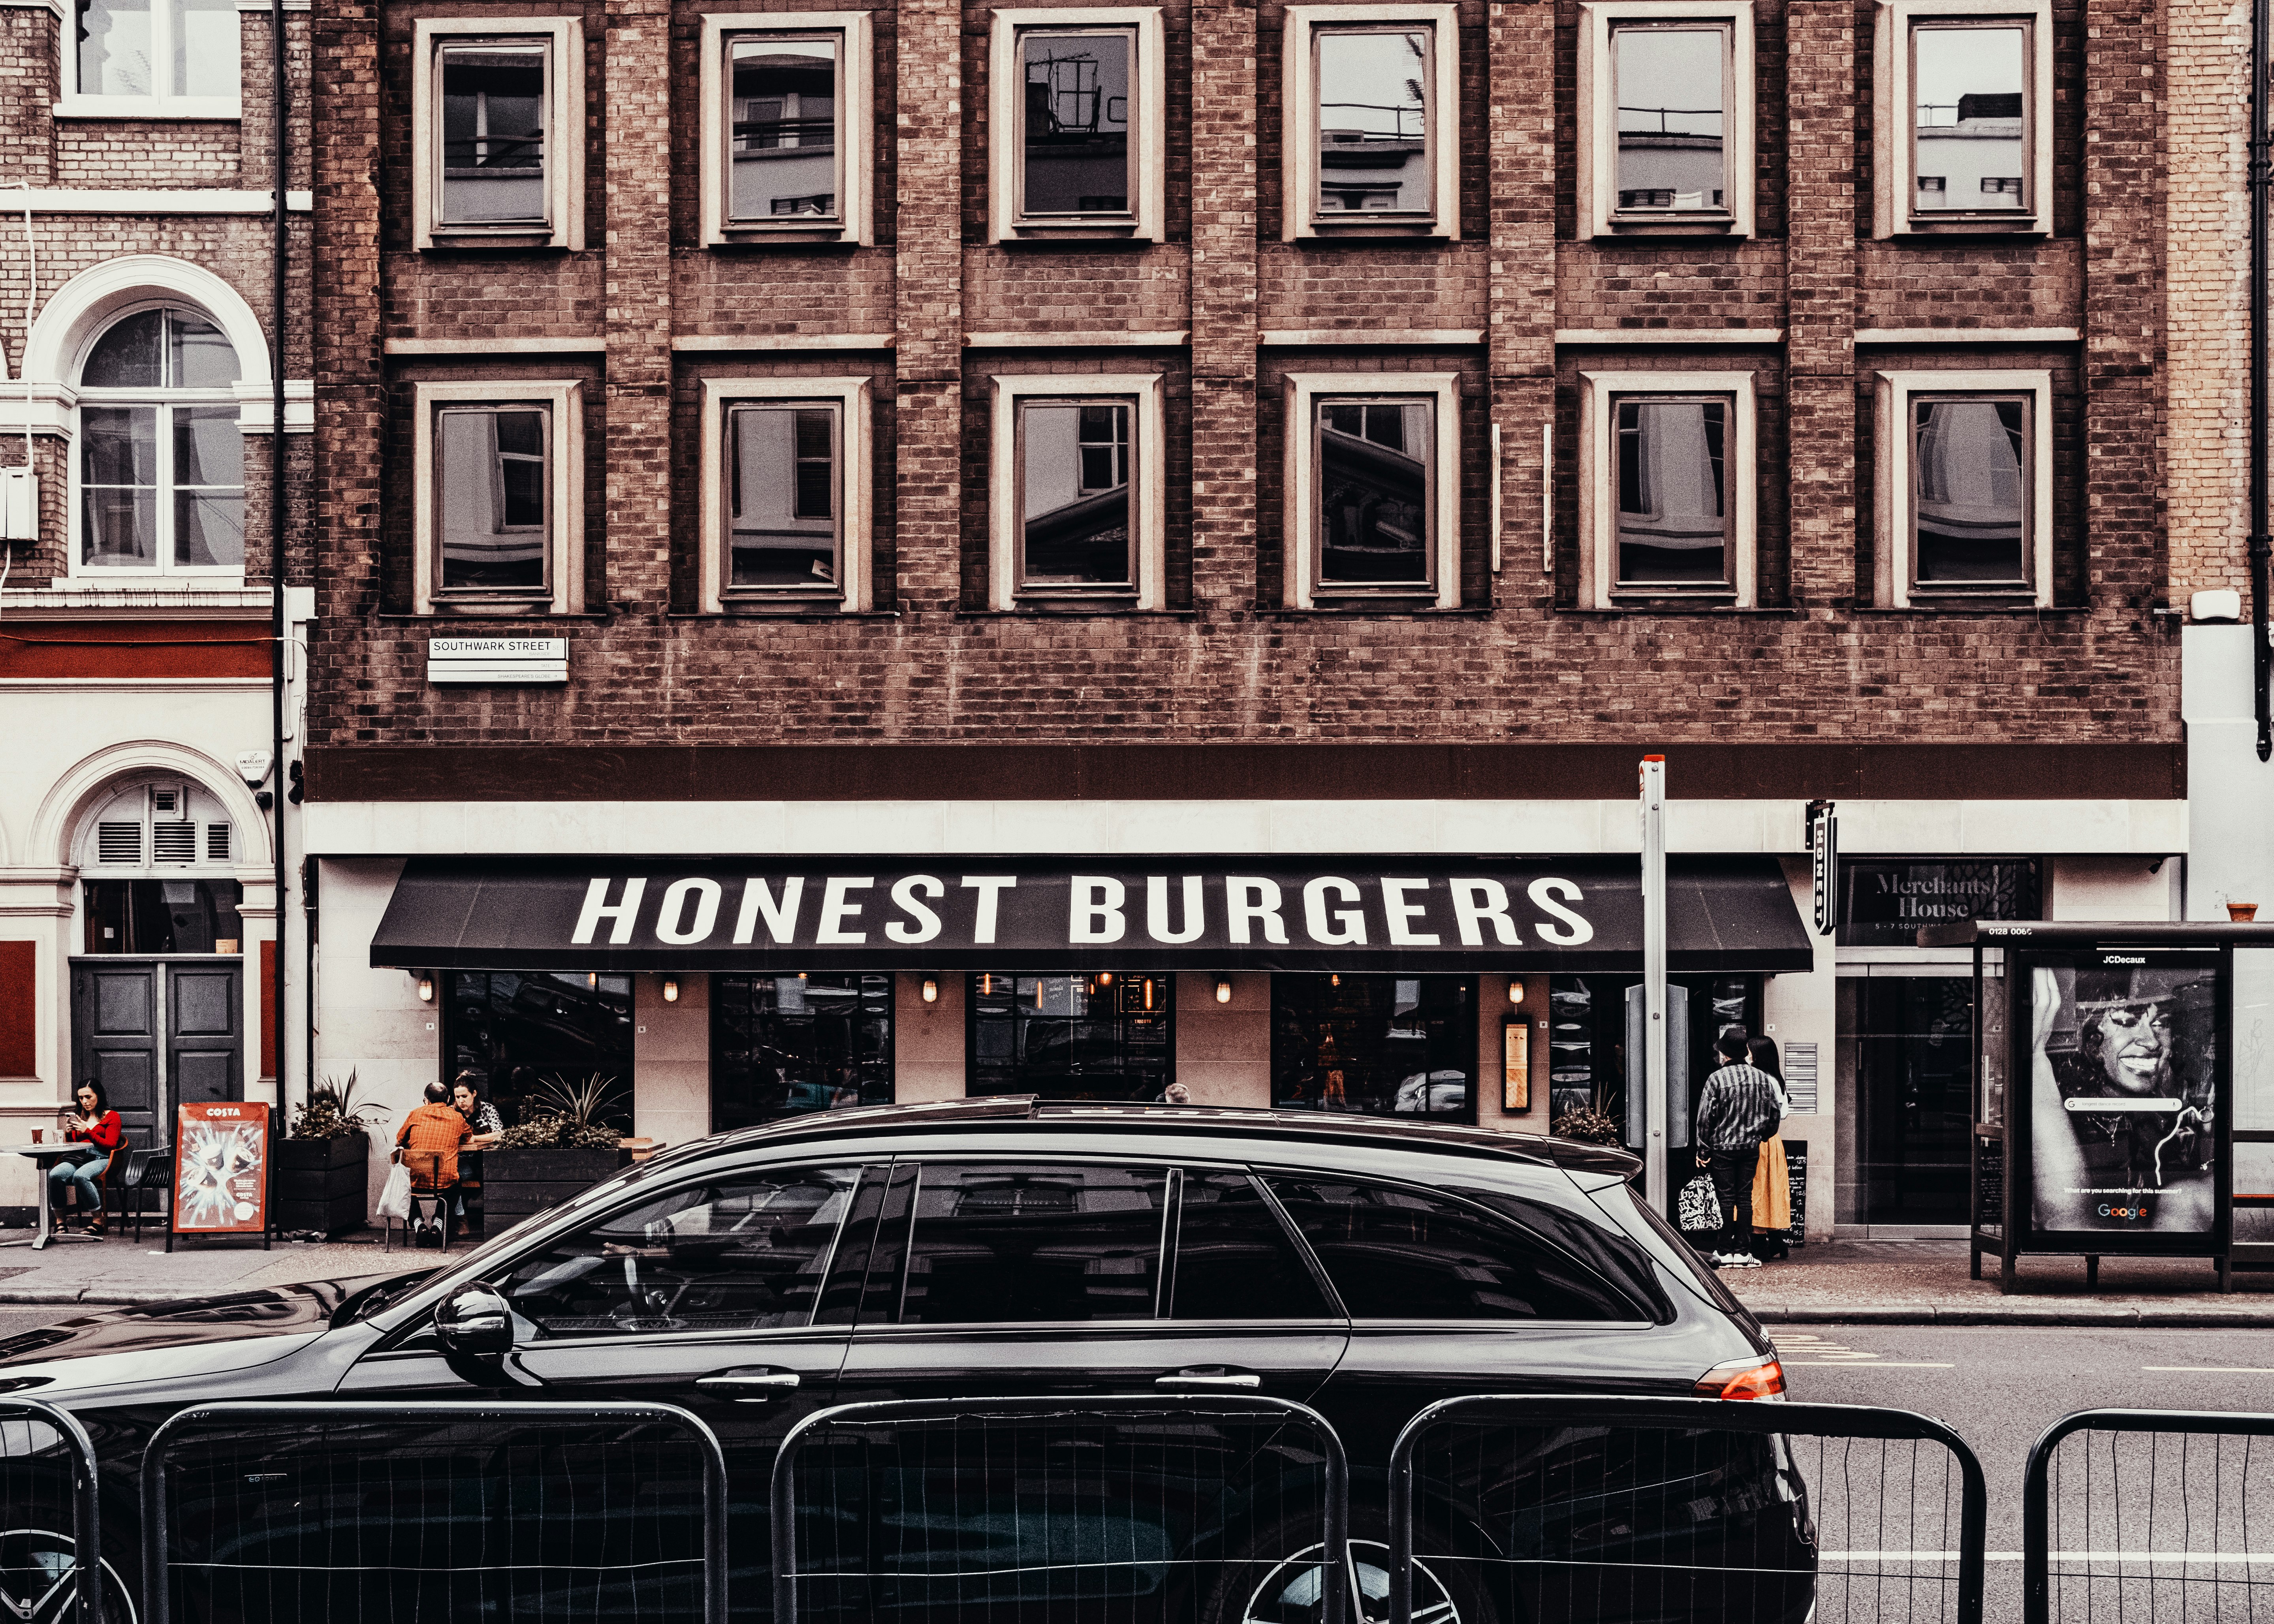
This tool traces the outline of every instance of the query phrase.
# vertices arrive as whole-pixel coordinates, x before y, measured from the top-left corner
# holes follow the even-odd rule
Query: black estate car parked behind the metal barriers
[[[1355,1588],[1364,1615],[1383,1617],[1387,1460],[1424,1406],[1455,1394],[1781,1392],[1760,1326],[1633,1196],[1630,1174],[1630,1158],[1594,1146],[1328,1115],[1030,1099],[839,1110],[669,1151],[439,1269],[98,1312],[11,1337],[0,1342],[0,1392],[57,1403],[93,1435],[116,1619],[139,1617],[141,1451],[193,1403],[682,1406],[725,1451],[735,1615],[766,1617],[769,1474],[807,1417],[864,1401],[969,1410],[978,1399],[1078,1406],[1103,1394],[1178,1397],[1196,1410],[1255,1394],[1326,1417],[1351,1463]],[[318,1617],[305,1588],[316,1569],[334,1585],[359,1574],[352,1613],[337,1594],[325,1604],[334,1617],[430,1619],[468,1613],[450,1599],[453,1572],[521,1572],[523,1558],[450,1542],[496,1522],[482,1494],[518,1467],[491,1460],[489,1488],[475,1488],[450,1460],[534,1444],[409,1428],[418,1442],[396,1467],[375,1449],[377,1465],[366,1458],[343,1478],[337,1458],[318,1474],[307,1456],[327,1431],[273,1426],[266,1442],[180,1453],[166,1531],[177,1619]],[[1317,1503],[1305,1474],[1319,1472],[1319,1453],[1301,1447],[1301,1428],[1269,1449],[1226,1444],[1237,1431],[1226,1419],[1210,1458],[1230,1465],[1203,1469],[1196,1433],[1185,1453],[1155,1447],[1139,1460],[1114,1453],[1110,1426],[1076,1428],[1035,1444],[1032,1472],[1019,1467],[1001,1492],[978,1453],[955,1453],[969,1437],[903,1437],[889,1451],[839,1440],[816,1453],[821,1524],[800,1522],[798,1538],[839,1551],[832,1560],[850,1540],[871,1569],[853,1583],[832,1567],[835,1590],[807,1592],[814,1610],[800,1606],[800,1617],[953,1613],[937,1583],[871,1583],[889,1551],[923,1547],[932,1572],[944,1549],[973,1572],[1110,1569],[1121,1592],[1098,1579],[1107,1590],[1092,1599],[1114,1606],[1089,1617],[1142,1619],[1151,1604],[1201,1624],[1317,1619],[1319,1524],[1276,1508]],[[1781,1444],[1637,1437],[1555,1428],[1426,1469],[1430,1624],[1806,1617],[1812,1531]],[[1051,1460],[1107,1458],[1126,1467],[1119,1488],[1096,1478],[1060,1494],[1046,1472]],[[525,1460],[530,1474],[559,1467]],[[655,1540],[684,1547],[696,1490],[657,1460],[625,1492],[648,1497]],[[594,1488],[603,1476],[584,1472],[584,1490],[605,1499],[614,1490]],[[1130,1488],[1139,1478],[1146,1488]],[[1214,1488],[1196,1488],[1203,1478]],[[1055,1524],[1041,1515],[1051,1506]],[[1069,1522],[1067,1506],[1080,1517]],[[582,1510],[573,1497],[532,1503],[530,1549],[573,1547]],[[830,1517],[844,1528],[832,1533]],[[1076,1560],[1101,1542],[1121,1556]],[[1217,1558],[1210,1581],[1189,1579],[1198,1551]],[[573,1565],[578,1553],[566,1556]],[[0,1549],[0,1569],[27,1567],[36,1551]],[[1715,1590],[1715,1569],[1751,1574],[1751,1590]],[[264,1574],[266,1590],[246,1574]],[[302,1585],[289,1608],[277,1574]],[[644,1608],[605,1597],[541,1606],[507,1585],[484,1592],[482,1610]],[[989,1617],[1016,1613],[1005,1601]]]

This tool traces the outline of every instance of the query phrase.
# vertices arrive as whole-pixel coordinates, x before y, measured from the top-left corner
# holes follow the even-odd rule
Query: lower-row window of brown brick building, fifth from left
[[[1590,607],[1753,605],[1753,375],[1580,373]]]

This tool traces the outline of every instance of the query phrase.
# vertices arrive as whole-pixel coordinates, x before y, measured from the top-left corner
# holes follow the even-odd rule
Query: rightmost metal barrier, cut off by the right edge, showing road
[[[2024,1624],[2260,1606],[2274,1619],[2274,1415],[2081,1410],[2028,1451]]]

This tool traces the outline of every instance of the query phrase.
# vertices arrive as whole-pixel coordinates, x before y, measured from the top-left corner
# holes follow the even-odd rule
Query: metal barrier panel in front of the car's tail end
[[[1389,1453],[1389,1622],[1981,1624],[1987,1522],[1974,1451],[1910,1410],[1444,1399]]]

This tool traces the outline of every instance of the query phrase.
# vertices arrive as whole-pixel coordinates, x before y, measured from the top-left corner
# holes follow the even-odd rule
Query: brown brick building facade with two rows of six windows
[[[2231,357],[2204,332],[2229,307],[2181,239],[2219,184],[2197,148],[2224,136],[2167,125],[2176,14],[719,5],[341,0],[314,18],[318,1067],[405,1099],[468,1062],[568,1067],[566,1049],[507,1053],[512,948],[402,939],[398,880],[421,864],[575,860],[619,885],[609,864],[712,853],[941,871],[1062,853],[1130,855],[1142,883],[1148,853],[1401,855],[1444,898],[1460,862],[1630,853],[1644,751],[1669,757],[1683,860],[1753,864],[1781,896],[1806,901],[1803,803],[1837,798],[1846,851],[1894,892],[1965,871],[2019,917],[2176,917],[2172,605],[2233,569],[2233,469],[2201,430],[2231,409]],[[1383,41],[1410,71],[1380,66]],[[475,105],[473,75],[539,59],[523,139],[546,159],[523,168],[543,198],[466,223],[432,141],[453,139],[453,98]],[[785,134],[782,86],[816,59],[837,191],[739,212],[746,159],[812,139]],[[1123,189],[1039,207],[1071,150],[1044,134],[1119,152]],[[2183,146],[2185,182],[2167,173]],[[1953,155],[1994,173],[1969,191]],[[1035,550],[1060,403],[1096,407],[1082,450],[1128,455],[1098,487],[1126,503],[1128,550],[1071,585]],[[769,412],[832,425],[810,457],[837,480],[812,521],[835,525],[825,591],[735,575],[757,535],[739,503],[762,491],[728,489],[760,444],[732,437],[775,432]],[[523,530],[550,562],[505,591],[453,562],[471,557],[448,535],[464,432],[543,434],[541,462],[516,455],[548,480]],[[1947,450],[1960,434],[1972,450]],[[800,544],[748,541],[760,573],[762,546]],[[459,680],[464,651],[437,639],[562,639],[566,678]],[[1790,1133],[1817,1149],[1819,1231],[1962,1208],[1962,1080],[1937,1074],[1931,1130],[1890,1094],[1890,1055],[1958,1030],[1956,980],[1890,928],[1858,919],[1806,964],[1692,962],[1694,996],[1774,1030],[1794,1074],[1806,1055]],[[1408,1060],[1460,1074],[1451,1115],[1544,1130],[1615,1083],[1615,1039],[1551,1030],[1542,994],[1601,1012],[1624,971],[1565,973],[1519,937],[1446,960],[1467,1037]],[[785,953],[800,942],[821,967],[812,937]],[[798,964],[698,948],[666,999],[659,962],[523,969],[621,980],[575,1019],[632,1028],[641,1133],[746,1119],[721,1108],[723,1069],[746,1064],[730,1051],[796,1026],[750,983]],[[1414,999],[1435,1008],[1419,962],[1383,960],[1396,1030]],[[1016,1080],[987,1058],[996,971],[1055,978],[1039,1008],[1096,1003],[1112,964],[1067,946],[944,976],[907,948],[869,969],[891,978],[887,1060],[855,1094],[937,1099]],[[1376,973],[1360,953],[1348,969]],[[1169,1064],[1203,1103],[1344,1101],[1355,1069],[1319,1049],[1344,1017],[1303,1014],[1319,976],[1237,955],[1173,976]],[[1526,978],[1535,1042],[1505,1049],[1499,987]],[[725,1024],[725,980],[757,1028]],[[1503,1076],[1517,1053],[1530,1089]],[[798,1064],[764,1110],[844,1096]],[[1117,1087],[1139,1085],[1092,1092]]]

